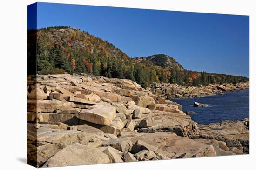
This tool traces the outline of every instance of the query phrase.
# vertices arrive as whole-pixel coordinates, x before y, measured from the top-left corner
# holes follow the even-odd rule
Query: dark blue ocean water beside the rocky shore
[[[221,122],[223,120],[241,120],[249,118],[249,90],[226,92],[227,95],[170,99],[182,105],[183,112],[194,111],[189,114],[192,120],[199,124]],[[209,104],[209,107],[193,107],[194,101]]]

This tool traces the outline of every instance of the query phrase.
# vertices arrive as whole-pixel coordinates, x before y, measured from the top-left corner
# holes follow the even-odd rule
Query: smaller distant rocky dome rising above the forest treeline
[[[153,63],[163,69],[185,71],[183,66],[178,63],[173,57],[165,54],[156,54],[148,57],[135,57],[134,60],[138,63]]]

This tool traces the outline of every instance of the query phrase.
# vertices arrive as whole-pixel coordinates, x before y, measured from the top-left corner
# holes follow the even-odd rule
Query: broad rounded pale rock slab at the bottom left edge
[[[74,144],[57,152],[43,167],[110,163],[108,155],[89,146]]]

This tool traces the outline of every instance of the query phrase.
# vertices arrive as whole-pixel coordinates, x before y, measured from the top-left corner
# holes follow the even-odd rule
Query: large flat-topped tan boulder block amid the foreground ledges
[[[108,105],[95,105],[90,109],[82,110],[76,117],[91,123],[111,125],[115,119],[116,107]]]

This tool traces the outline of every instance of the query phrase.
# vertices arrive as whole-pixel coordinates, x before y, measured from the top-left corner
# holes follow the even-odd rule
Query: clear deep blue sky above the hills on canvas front
[[[185,69],[249,77],[249,16],[38,3],[37,27],[65,25],[130,57],[167,54]]]

